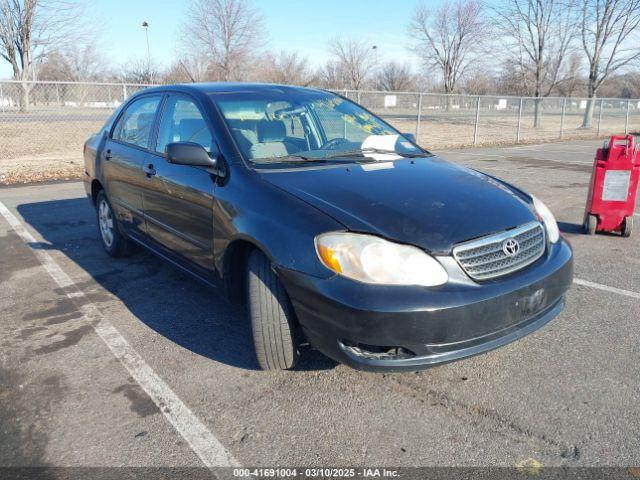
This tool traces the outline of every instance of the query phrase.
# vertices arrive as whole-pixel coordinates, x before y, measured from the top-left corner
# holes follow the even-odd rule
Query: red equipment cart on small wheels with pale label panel
[[[631,235],[639,175],[640,150],[634,147],[632,135],[613,136],[598,149],[584,215],[587,233]]]

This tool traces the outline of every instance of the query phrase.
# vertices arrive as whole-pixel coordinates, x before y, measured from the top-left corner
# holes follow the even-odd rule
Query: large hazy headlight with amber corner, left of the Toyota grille
[[[422,250],[373,235],[332,232],[316,237],[322,263],[364,283],[434,287],[448,280],[440,263]]]

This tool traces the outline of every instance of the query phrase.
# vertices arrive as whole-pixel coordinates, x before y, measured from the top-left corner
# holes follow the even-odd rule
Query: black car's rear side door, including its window
[[[133,100],[123,111],[102,149],[102,175],[114,212],[128,234],[142,236],[142,171],[149,160],[151,132],[162,95],[145,95]]]

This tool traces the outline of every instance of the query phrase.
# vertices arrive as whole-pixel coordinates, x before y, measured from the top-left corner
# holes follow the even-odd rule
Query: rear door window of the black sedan
[[[113,139],[147,148],[160,98],[159,96],[143,97],[129,105],[116,124]]]

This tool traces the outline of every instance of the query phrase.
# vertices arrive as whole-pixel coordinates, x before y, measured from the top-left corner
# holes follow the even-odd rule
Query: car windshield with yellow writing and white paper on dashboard
[[[215,101],[243,156],[256,167],[429,155],[379,118],[330,93],[229,93]]]

